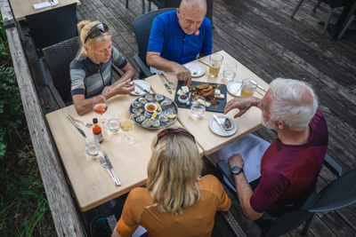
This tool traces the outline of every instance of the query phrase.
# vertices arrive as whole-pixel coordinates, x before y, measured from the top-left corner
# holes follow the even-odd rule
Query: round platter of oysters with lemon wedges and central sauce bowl
[[[146,94],[131,103],[129,113],[145,129],[157,130],[171,125],[178,117],[178,107],[162,94]]]

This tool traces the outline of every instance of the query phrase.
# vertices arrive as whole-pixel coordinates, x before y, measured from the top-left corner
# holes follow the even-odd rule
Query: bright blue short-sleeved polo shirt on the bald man
[[[197,59],[199,52],[210,55],[212,48],[212,26],[207,18],[191,35],[182,30],[176,10],[164,12],[153,20],[147,51],[160,52],[162,58],[184,64]]]

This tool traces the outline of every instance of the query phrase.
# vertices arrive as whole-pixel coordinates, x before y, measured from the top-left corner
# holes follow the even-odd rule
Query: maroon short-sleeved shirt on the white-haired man
[[[250,199],[256,212],[279,215],[296,209],[316,185],[328,148],[328,126],[319,109],[309,126],[312,132],[306,144],[284,145],[277,138],[263,154],[261,181]]]

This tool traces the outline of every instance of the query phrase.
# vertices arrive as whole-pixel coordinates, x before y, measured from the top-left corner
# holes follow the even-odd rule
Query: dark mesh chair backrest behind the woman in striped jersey
[[[78,37],[53,44],[43,49],[44,59],[47,61],[54,87],[64,102],[67,102],[70,98],[71,82],[69,65],[70,62],[76,58],[78,50]]]

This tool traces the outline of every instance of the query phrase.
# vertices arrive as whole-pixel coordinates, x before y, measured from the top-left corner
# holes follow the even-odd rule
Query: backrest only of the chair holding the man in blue
[[[142,62],[146,66],[146,54],[147,48],[149,46],[150,29],[152,27],[152,22],[159,14],[172,10],[174,10],[174,8],[163,8],[158,11],[147,12],[146,14],[143,14],[142,16],[138,17],[133,22],[134,34],[136,36],[136,41],[139,48],[139,57],[140,59],[142,59]]]

